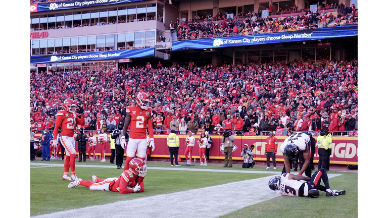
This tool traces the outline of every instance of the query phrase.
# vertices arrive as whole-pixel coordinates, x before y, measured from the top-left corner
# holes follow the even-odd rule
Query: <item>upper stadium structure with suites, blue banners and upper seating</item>
[[[133,58],[154,59],[154,57],[160,57],[171,59],[174,56],[174,51],[178,50],[203,50],[228,46],[236,47],[229,52],[231,53],[229,58],[234,61],[234,54],[236,49],[238,50],[237,47],[240,46],[250,45],[251,48],[257,50],[258,47],[252,45],[357,36],[357,25],[353,25],[352,28],[340,26],[333,27],[336,29],[315,29],[314,25],[317,25],[318,22],[314,20],[311,25],[309,23],[306,27],[307,15],[306,19],[300,21],[303,25],[294,24],[295,28],[292,25],[287,25],[290,21],[287,18],[284,19],[284,17],[291,17],[291,21],[294,21],[298,17],[293,15],[305,13],[309,9],[314,10],[314,6],[310,7],[313,4],[312,1],[303,4],[302,1],[270,1],[264,3],[261,0],[246,0],[238,4],[233,1],[211,2],[202,0],[172,1],[171,4],[156,0],[45,1],[37,4],[31,3],[31,69],[37,70],[36,67],[43,67],[43,71],[47,71],[50,67],[47,64],[54,64],[54,66],[59,64],[59,69],[75,70],[75,66],[77,68],[90,66],[91,64],[88,62],[98,63],[98,66],[116,65],[117,69],[120,62],[130,62]],[[323,13],[327,13],[327,16],[329,16],[329,13],[334,15],[334,18],[330,19],[318,18],[319,25],[317,27],[344,25],[349,22],[349,17],[335,16],[346,9],[343,4],[350,5],[350,1],[333,1],[333,4],[333,6],[331,6],[331,3],[322,6],[317,5],[320,16]],[[335,6],[335,4],[338,6]],[[322,12],[322,10],[326,11]],[[265,18],[267,12],[269,17]],[[258,25],[255,21],[252,21],[254,15],[257,18],[256,23],[262,24],[259,30],[257,30]],[[238,22],[229,22],[227,17],[230,16]],[[202,18],[203,20],[201,20]],[[352,21],[355,20],[354,16],[352,19]],[[198,22],[198,24],[195,24],[196,28],[191,28],[190,24],[195,22]],[[222,28],[222,22],[231,24]],[[173,34],[170,34],[170,23],[174,24],[174,30],[178,29],[179,39],[182,39],[182,35],[184,35],[184,39],[196,40],[190,40],[190,42],[176,41],[178,39],[176,37],[177,32],[174,31]],[[184,23],[187,24],[186,28],[182,25]],[[221,28],[218,28],[220,34],[201,35],[203,33],[201,29],[198,29],[200,25],[213,30],[221,26]],[[229,25],[240,25],[237,34],[233,34],[233,32],[229,34]],[[275,27],[279,29],[275,29]],[[195,37],[191,38],[192,35],[195,35]],[[163,36],[166,38],[165,41],[168,42],[163,43]],[[222,36],[233,37],[224,39]],[[171,43],[171,41],[173,42]],[[327,46],[329,40],[326,40],[326,43]],[[168,55],[163,55],[158,51],[167,52]],[[180,56],[180,53],[176,53],[175,57],[177,56]],[[198,56],[198,54],[195,56]],[[302,51],[297,56],[301,57]],[[190,55],[187,57],[191,58]],[[291,59],[292,57],[289,56],[288,58]],[[343,55],[341,58],[345,59],[346,57]],[[221,59],[213,58],[213,63],[217,64]],[[179,63],[180,61],[172,60],[171,62]],[[66,65],[68,65],[68,68],[66,68]]]

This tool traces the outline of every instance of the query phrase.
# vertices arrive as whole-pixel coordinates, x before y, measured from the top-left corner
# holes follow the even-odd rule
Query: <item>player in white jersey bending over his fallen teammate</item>
[[[298,175],[302,175],[305,172],[306,176],[311,177],[311,143],[310,137],[307,134],[296,132],[288,136],[280,145],[280,151],[283,153],[284,157],[282,174],[290,173],[293,160],[298,156],[299,152],[302,152],[305,162],[303,163],[303,167]]]

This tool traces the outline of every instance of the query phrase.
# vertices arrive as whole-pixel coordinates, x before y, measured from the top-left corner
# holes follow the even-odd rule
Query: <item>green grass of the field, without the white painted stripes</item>
[[[34,163],[45,163],[50,166],[62,161],[35,161]],[[92,175],[99,178],[118,177],[123,170],[115,169],[115,165],[107,162],[87,161],[76,162],[77,166],[105,166],[100,167],[76,167],[76,173],[83,180],[91,180]],[[198,164],[197,164],[198,165]],[[149,168],[165,167],[173,168],[169,162],[147,163]],[[250,174],[230,173],[232,171],[262,171],[265,167],[255,169],[242,169],[241,164],[233,165],[231,169],[222,168],[222,164],[208,165],[207,167],[181,167],[189,169],[214,169],[225,170],[225,172],[200,172],[200,171],[170,171],[149,169],[144,187],[146,191],[135,194],[119,194],[118,192],[90,191],[88,188],[78,186],[72,189],[67,188],[70,181],[62,181],[63,167],[41,167],[31,165],[31,193],[30,193],[30,215],[46,214],[56,211],[82,208],[86,206],[102,205],[123,200],[174,193],[190,189],[199,189],[231,182],[244,181],[271,176],[273,174]],[[177,167],[175,167],[177,168]],[[271,172],[281,172],[281,169]],[[273,199],[247,206],[243,209],[231,212],[223,217],[357,217],[357,174],[346,172],[330,171],[330,174],[342,174],[329,179],[333,189],[345,189],[346,195],[338,197],[321,196],[316,199],[308,197],[279,196]],[[243,187],[241,187],[243,188]],[[268,188],[265,187],[265,188]],[[276,195],[276,193],[273,193]],[[182,199],[184,196],[177,196]],[[221,199],[222,200],[222,199]],[[325,205],[325,206],[323,206]],[[308,207],[309,212],[304,208]],[[326,209],[325,209],[326,208]],[[327,209],[330,208],[330,209]],[[304,211],[301,213],[301,211]]]

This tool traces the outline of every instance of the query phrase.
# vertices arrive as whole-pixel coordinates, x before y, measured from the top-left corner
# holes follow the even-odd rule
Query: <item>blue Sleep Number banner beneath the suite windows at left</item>
[[[99,62],[99,61],[112,60],[112,59],[153,57],[154,55],[155,55],[155,48],[66,53],[66,54],[58,54],[58,55],[31,56],[30,64],[66,63],[66,62],[79,62],[79,61]]]

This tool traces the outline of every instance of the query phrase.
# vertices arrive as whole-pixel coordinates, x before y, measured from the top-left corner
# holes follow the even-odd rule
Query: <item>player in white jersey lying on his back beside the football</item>
[[[325,186],[320,185],[321,180]],[[326,196],[344,195],[345,190],[337,191],[330,189],[329,179],[326,170],[321,168],[311,178],[283,173],[281,176],[273,177],[268,186],[272,190],[279,190],[278,193],[289,196],[309,196],[311,189],[318,189],[326,192]]]

